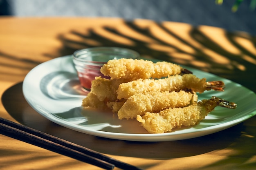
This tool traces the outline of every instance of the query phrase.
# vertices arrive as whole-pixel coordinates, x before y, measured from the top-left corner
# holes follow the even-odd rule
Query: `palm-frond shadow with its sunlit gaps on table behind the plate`
[[[215,38],[218,36],[219,40]],[[142,57],[198,68],[256,91],[256,38],[247,33],[188,24],[173,27],[169,22],[124,21],[120,26],[71,30],[58,39],[63,44],[56,51],[60,56],[95,46],[124,47]]]

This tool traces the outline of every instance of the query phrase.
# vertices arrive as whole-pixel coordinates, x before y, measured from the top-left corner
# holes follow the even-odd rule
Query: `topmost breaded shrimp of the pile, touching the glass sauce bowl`
[[[161,78],[181,73],[191,73],[179,65],[169,62],[153,63],[148,60],[119,59],[110,60],[101,67],[101,73],[114,79]]]

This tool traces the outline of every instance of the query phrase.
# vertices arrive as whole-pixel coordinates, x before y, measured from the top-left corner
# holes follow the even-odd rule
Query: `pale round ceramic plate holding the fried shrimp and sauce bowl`
[[[136,120],[119,120],[112,113],[83,110],[81,90],[71,56],[59,57],[33,68],[23,82],[27,102],[47,119],[67,128],[99,137],[128,141],[173,141],[208,135],[234,126],[256,114],[256,95],[228,79],[189,68],[207,81],[225,82],[225,92],[206,91],[199,99],[221,97],[235,102],[234,109],[216,107],[200,124],[173,129],[164,134],[149,134]]]

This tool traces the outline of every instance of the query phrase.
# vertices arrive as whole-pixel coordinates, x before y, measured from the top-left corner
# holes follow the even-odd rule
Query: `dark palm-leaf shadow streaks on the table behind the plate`
[[[225,46],[223,46],[222,44],[217,44],[216,42],[213,42],[213,40],[207,37],[205,33],[200,31],[199,27],[194,26],[189,31],[189,36],[193,38],[193,40],[195,40],[197,43],[199,43],[203,48],[213,51],[217,55],[221,55],[225,58],[225,60],[229,61],[229,64],[226,64],[226,63],[220,64],[221,61],[213,60],[212,57],[209,56],[207,53],[204,53],[202,49],[199,49],[197,46],[195,46],[191,42],[180,37],[174,31],[170,31],[161,23],[155,22],[153,25],[158,27],[162,31],[165,31],[166,33],[168,33],[168,35],[174,37],[176,40],[183,43],[184,45],[189,46],[195,52],[189,53],[186,50],[184,50],[182,46],[181,47],[175,46],[175,44],[173,44],[173,42],[171,41],[166,42],[161,38],[156,37],[150,31],[150,26],[141,28],[133,21],[130,21],[130,22],[124,21],[123,24],[129,27],[130,29],[132,29],[133,31],[136,31],[137,33],[144,35],[147,38],[153,40],[153,42],[146,42],[144,40],[139,40],[139,39],[130,37],[126,33],[120,32],[115,27],[102,26],[101,29],[103,29],[104,31],[112,35],[117,35],[121,38],[126,38],[127,40],[130,40],[132,44],[122,44],[120,42],[115,41],[114,39],[107,38],[103,35],[100,35],[94,29],[89,28],[86,30],[87,31],[86,34],[83,34],[76,30],[72,30],[70,31],[70,33],[68,33],[76,37],[79,37],[79,40],[68,38],[65,34],[58,35],[58,39],[63,44],[62,48],[59,49],[58,52],[61,53],[62,55],[72,54],[77,49],[94,47],[95,43],[94,44],[91,43],[91,41],[94,41],[94,42],[97,42],[100,46],[117,46],[117,47],[133,49],[135,51],[138,51],[141,54],[141,56],[147,56],[147,57],[155,58],[159,60],[166,60],[166,61],[174,62],[177,64],[185,64],[186,66],[198,68],[200,70],[207,71],[207,72],[219,75],[221,77],[231,79],[234,82],[243,84],[247,88],[250,88],[253,91],[256,91],[256,87],[254,86],[254,83],[251,82],[252,79],[256,79],[256,75],[252,74],[256,72],[255,63],[244,60],[242,55],[247,55],[253,58],[254,60],[256,60],[256,56],[255,54],[251,53],[250,51],[245,49],[243,46],[241,46],[234,40],[237,36],[240,36],[240,35],[236,33],[229,33],[229,32],[226,32],[225,34],[227,40],[240,51],[240,54],[234,54],[227,51],[225,49]],[[250,40],[255,46],[256,38],[250,37]],[[175,53],[190,55],[192,57],[192,60],[188,60],[186,58],[174,57],[172,56],[172,52],[152,49],[150,48],[150,45],[152,44],[170,47],[171,49],[174,50]],[[197,66],[194,64],[194,61],[206,63],[207,67]],[[241,70],[239,66],[243,66],[243,68],[246,68],[246,70]]]

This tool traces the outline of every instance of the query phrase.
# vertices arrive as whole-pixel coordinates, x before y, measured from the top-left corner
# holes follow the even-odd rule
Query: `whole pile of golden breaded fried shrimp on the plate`
[[[136,118],[150,133],[198,124],[216,106],[236,108],[217,97],[198,102],[197,93],[223,91],[224,82],[207,82],[176,64],[110,60],[101,73],[110,79],[95,77],[82,107],[111,109],[118,119]]]

